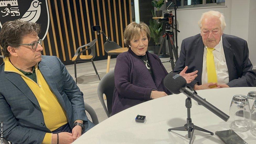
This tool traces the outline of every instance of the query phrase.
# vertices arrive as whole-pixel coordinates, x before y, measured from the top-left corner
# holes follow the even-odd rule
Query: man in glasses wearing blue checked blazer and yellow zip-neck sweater
[[[0,121],[13,143],[72,143],[94,126],[83,93],[63,63],[42,56],[40,26],[23,20],[3,24],[0,45]]]

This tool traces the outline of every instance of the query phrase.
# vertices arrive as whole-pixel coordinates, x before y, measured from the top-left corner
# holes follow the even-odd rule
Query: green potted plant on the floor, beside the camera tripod
[[[160,48],[159,38],[162,35],[162,23],[157,23],[155,19],[151,19],[149,21],[148,27],[150,29],[150,37],[155,42],[155,45],[153,45],[154,46],[153,51],[154,51],[154,54],[157,54]]]

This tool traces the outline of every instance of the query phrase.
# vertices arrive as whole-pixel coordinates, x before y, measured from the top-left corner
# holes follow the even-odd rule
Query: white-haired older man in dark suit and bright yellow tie
[[[209,11],[198,22],[201,33],[182,41],[174,72],[188,66],[187,72],[198,70],[198,77],[188,86],[199,90],[226,87],[253,87],[252,71],[246,40],[223,34],[223,14]]]

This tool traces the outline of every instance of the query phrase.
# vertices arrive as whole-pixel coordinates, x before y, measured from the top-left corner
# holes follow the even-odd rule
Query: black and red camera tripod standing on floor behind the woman
[[[173,32],[172,31],[166,30],[165,33],[163,34],[163,39],[162,39],[160,48],[158,50],[157,56],[159,57],[159,55],[161,53],[161,50],[163,48],[163,43],[165,42],[165,40],[168,41],[168,48],[169,48],[169,54],[170,54],[170,60],[165,61],[165,62],[170,62],[171,66],[172,66],[172,70],[173,70],[174,66],[175,66],[175,63],[176,63],[176,62],[174,62],[173,54],[174,54],[175,60],[177,60],[178,59],[178,51],[177,51],[177,49],[175,48],[175,45],[174,45]],[[162,63],[164,63],[164,62],[162,62]]]

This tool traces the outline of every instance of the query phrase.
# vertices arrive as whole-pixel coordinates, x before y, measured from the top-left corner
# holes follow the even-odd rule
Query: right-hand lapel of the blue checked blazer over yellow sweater
[[[42,76],[44,77],[46,83],[49,85],[51,91],[54,93],[62,108],[66,111],[66,105],[64,103],[61,94],[58,92],[56,88],[56,84],[54,83],[54,78],[52,77],[52,72],[50,68],[45,64],[45,62],[41,61],[38,64],[38,69],[40,70]]]

